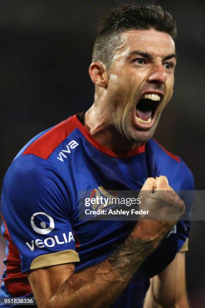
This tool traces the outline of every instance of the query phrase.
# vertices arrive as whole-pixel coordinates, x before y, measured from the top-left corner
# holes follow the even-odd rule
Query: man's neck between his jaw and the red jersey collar
[[[93,104],[84,117],[85,128],[97,142],[119,154],[142,145],[123,136],[112,123],[111,114],[107,114],[106,110],[99,107],[100,105],[102,106]]]

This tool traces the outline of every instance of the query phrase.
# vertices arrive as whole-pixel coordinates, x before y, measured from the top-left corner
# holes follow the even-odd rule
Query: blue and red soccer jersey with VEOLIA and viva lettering
[[[34,137],[8,169],[2,192],[2,234],[7,242],[0,297],[32,296],[27,272],[75,263],[75,271],[111,255],[133,221],[79,220],[79,191],[140,190],[148,177],[165,175],[175,191],[193,190],[185,163],[150,139],[118,156],[102,147],[74,115]],[[191,200],[184,200],[186,208]],[[187,242],[180,220],[146,258],[112,307],[141,307],[149,279]],[[119,304],[120,303],[120,304]]]

